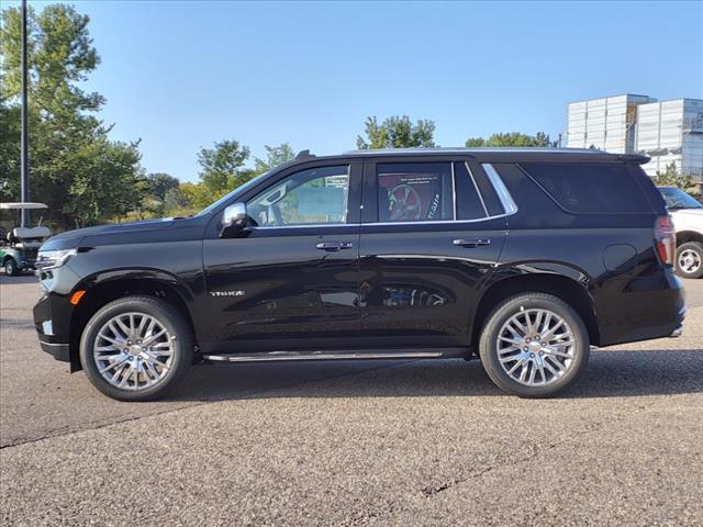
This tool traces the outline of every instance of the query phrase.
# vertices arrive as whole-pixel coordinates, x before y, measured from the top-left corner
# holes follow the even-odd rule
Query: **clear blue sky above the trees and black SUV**
[[[144,167],[181,180],[225,138],[258,156],[282,142],[355,148],[368,115],[432,119],[438,144],[462,146],[556,136],[573,100],[703,98],[700,1],[76,7],[102,57],[88,86],[107,97],[112,137],[141,137]]]

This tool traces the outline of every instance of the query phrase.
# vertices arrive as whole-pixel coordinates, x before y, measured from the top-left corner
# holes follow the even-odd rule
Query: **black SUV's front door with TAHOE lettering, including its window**
[[[359,337],[361,165],[311,165],[247,197],[244,237],[204,242],[217,348],[326,349]]]

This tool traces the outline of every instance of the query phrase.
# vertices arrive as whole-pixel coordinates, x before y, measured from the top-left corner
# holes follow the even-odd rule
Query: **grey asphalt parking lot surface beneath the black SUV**
[[[119,403],[0,277],[2,525],[703,525],[703,280],[680,338],[591,354],[560,399],[478,361],[193,367]]]

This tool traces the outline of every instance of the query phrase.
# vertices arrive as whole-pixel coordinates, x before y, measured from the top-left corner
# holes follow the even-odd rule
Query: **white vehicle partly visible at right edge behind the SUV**
[[[703,277],[703,204],[681,189],[660,187],[677,231],[677,272],[684,278]]]

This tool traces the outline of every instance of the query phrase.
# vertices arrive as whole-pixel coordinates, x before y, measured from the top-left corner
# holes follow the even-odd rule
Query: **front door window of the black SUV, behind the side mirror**
[[[349,167],[295,172],[247,202],[247,214],[263,227],[343,224],[347,220]]]

